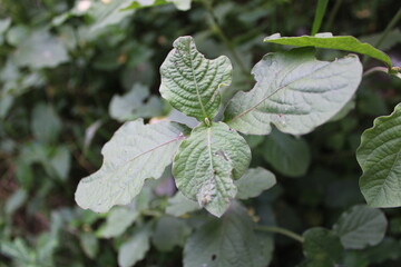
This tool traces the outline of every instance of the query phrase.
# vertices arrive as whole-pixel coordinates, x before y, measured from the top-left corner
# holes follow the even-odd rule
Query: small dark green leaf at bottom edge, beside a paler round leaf
[[[307,266],[334,267],[341,260],[343,248],[340,238],[331,230],[315,227],[303,234],[303,253]]]

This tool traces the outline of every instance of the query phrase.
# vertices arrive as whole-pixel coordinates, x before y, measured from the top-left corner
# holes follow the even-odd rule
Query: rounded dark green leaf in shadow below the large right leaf
[[[280,174],[300,177],[306,174],[311,164],[307,142],[302,138],[293,138],[276,129],[266,137],[262,150],[263,158]]]

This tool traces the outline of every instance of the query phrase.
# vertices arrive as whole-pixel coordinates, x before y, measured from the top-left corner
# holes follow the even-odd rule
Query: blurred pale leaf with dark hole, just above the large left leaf
[[[118,121],[160,116],[163,106],[159,98],[149,97],[149,89],[136,83],[124,96],[115,95],[109,105],[110,117]]]

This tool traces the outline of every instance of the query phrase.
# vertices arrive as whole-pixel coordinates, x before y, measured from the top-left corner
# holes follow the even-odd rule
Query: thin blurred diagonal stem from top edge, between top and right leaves
[[[229,53],[233,56],[234,61],[239,66],[241,71],[253,79],[251,73],[247,71],[244,62],[241,60],[238,53],[235,50],[235,46],[231,42],[229,38],[224,33],[222,27],[218,23],[216,14],[213,11],[212,4],[207,2],[207,0],[203,0],[202,3],[204,4],[205,9],[207,10],[208,14],[211,16],[213,28],[215,29],[218,38],[224,42],[226,48],[228,49]]]

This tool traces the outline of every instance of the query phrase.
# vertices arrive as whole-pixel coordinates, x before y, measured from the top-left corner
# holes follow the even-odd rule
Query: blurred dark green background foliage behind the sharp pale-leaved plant
[[[194,36],[207,58],[232,59],[228,99],[252,88],[250,72],[263,55],[287,49],[263,43],[264,37],[310,33],[316,1],[193,1],[188,11],[174,4],[120,11],[127,4],[0,2],[1,267],[180,266],[186,237],[208,216],[179,207],[168,171],[131,205],[106,215],[75,205],[78,181],[101,165],[100,149],[121,122],[169,117],[193,123],[158,93],[158,69],[177,37]],[[321,31],[376,44],[400,8],[399,0],[330,1]],[[395,27],[379,47],[394,66],[401,65],[400,43]],[[343,55],[317,52],[323,59]],[[365,69],[376,65],[365,61]],[[399,79],[371,75],[348,105],[351,111],[313,134],[246,137],[252,167],[266,167],[278,180],[245,201],[254,219],[302,233],[331,228],[344,210],[364,202],[355,149],[373,118],[401,101],[400,86]],[[384,211],[390,221],[385,239],[362,253],[349,251],[346,267],[400,266],[401,211]],[[135,255],[127,254],[138,243]],[[266,254],[271,266],[293,267],[303,259],[299,244],[282,236],[266,245]]]

